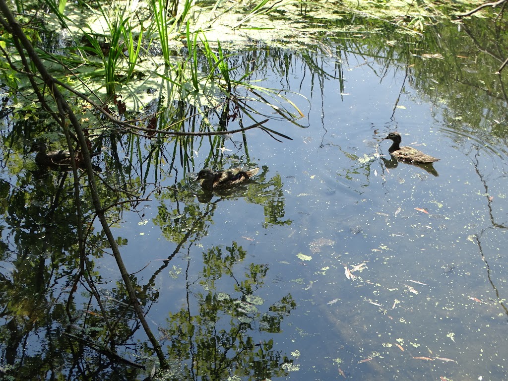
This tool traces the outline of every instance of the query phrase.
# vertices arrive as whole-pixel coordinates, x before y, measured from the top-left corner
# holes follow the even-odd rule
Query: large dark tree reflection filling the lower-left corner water
[[[78,219],[67,172],[25,173],[18,176],[16,187],[0,183],[10,228],[0,245],[0,374],[6,379],[45,379],[50,370],[76,378],[109,378],[120,361],[130,363],[112,348],[132,345],[137,325],[131,326],[135,316],[122,288],[101,295],[104,314],[89,297],[98,292],[95,282],[103,281],[93,258],[103,256],[105,238],[91,225],[90,205],[84,201],[88,190],[83,188]],[[78,221],[88,235],[84,248],[77,244]],[[149,305],[153,295],[140,299]],[[94,360],[85,364],[85,358]],[[126,379],[132,367],[139,365],[116,367],[115,375]]]

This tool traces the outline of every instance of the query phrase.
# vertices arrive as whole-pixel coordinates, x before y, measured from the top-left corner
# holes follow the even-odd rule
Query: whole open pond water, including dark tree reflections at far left
[[[239,76],[248,64],[250,81],[284,89],[305,114],[291,123],[251,102],[292,140],[249,130],[196,139],[185,156],[171,139],[106,139],[116,148],[104,161],[123,167],[104,168],[105,182],[146,184],[149,201],[113,208],[110,221],[172,366],[161,379],[508,378],[508,72],[495,74],[506,30],[482,19],[429,25],[424,39],[341,35],[306,54],[238,52]],[[36,176],[28,148],[9,140],[20,124],[2,126],[0,369],[145,379],[156,357],[88,219],[87,273],[118,330],[116,353],[146,370],[92,344],[112,339],[90,284],[76,281],[72,175],[63,194],[63,173]],[[382,138],[394,131],[440,158],[435,172],[393,160]],[[204,197],[193,181],[204,167],[237,166],[260,172],[231,194]]]

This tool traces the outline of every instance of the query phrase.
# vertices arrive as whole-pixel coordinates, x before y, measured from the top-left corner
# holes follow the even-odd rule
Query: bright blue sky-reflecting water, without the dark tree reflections
[[[156,277],[161,296],[150,311],[153,323],[164,327],[168,312],[180,308],[196,313],[209,292],[259,297],[262,313],[290,296],[295,305],[281,315],[279,331],[253,319],[245,332],[255,341],[272,339],[275,351],[293,359],[286,379],[505,379],[504,143],[485,144],[484,132],[461,122],[443,94],[411,86],[415,74],[351,52],[319,61],[327,73],[340,62],[343,87],[331,77],[317,84],[298,57],[285,78],[255,73],[263,86],[283,83],[308,99],[295,101],[307,128],[268,124],[292,141],[247,133],[250,166],[262,167],[258,181],[282,182],[280,224],[267,223],[264,207],[241,195],[214,197],[206,236]],[[497,122],[486,116],[482,123]],[[387,164],[390,143],[380,139],[391,131],[440,157],[438,176]],[[233,136],[225,155],[244,153],[241,146]],[[203,156],[196,152],[196,170]],[[129,236],[123,252],[130,271],[144,268],[138,276],[146,278],[175,247],[154,225],[156,202],[151,206],[143,219],[126,216],[118,231]],[[208,250],[225,255],[234,245],[245,257],[210,276]],[[254,265],[266,274],[242,298]],[[345,268],[356,267],[348,279]],[[219,314],[215,327],[229,332],[239,321]]]

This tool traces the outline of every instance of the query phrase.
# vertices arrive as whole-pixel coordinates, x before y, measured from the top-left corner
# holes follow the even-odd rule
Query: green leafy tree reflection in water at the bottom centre
[[[263,308],[264,300],[255,294],[263,287],[268,267],[251,263],[240,279],[237,273],[244,267],[237,265],[245,257],[246,251],[236,242],[214,246],[204,252],[202,291],[190,290],[196,282],[187,279],[186,306],[170,313],[168,326],[161,329],[168,357],[186,365],[179,367],[178,375],[173,373],[175,379],[233,375],[264,379],[288,374],[286,367],[292,360],[274,349],[271,334],[281,332],[284,316],[296,308],[296,302],[288,294]],[[230,280],[233,290],[219,291]]]

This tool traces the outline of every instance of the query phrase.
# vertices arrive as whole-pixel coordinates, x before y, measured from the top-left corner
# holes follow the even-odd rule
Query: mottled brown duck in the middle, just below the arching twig
[[[241,167],[227,169],[225,171],[212,171],[209,168],[199,171],[196,181],[201,183],[205,190],[227,189],[244,183],[252,176],[257,175],[259,168],[253,168],[248,171]]]

